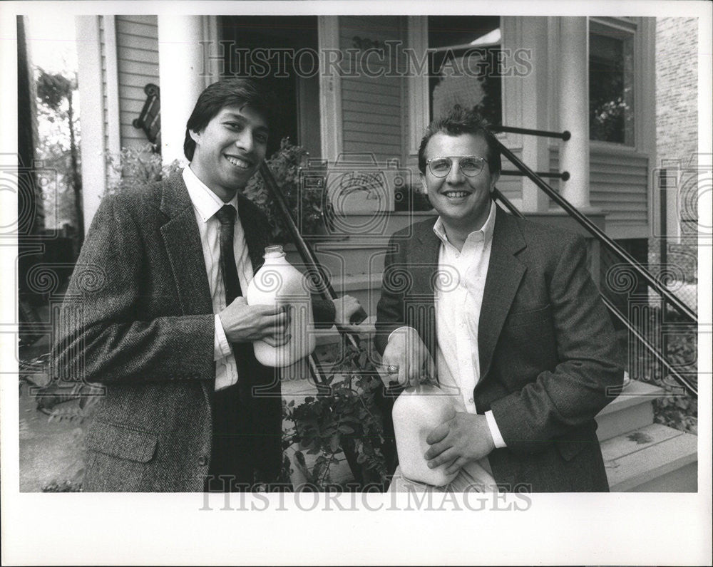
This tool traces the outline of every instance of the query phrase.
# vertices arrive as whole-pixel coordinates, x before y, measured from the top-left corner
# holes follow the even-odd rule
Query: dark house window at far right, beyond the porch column
[[[591,140],[634,145],[634,34],[590,21]]]

